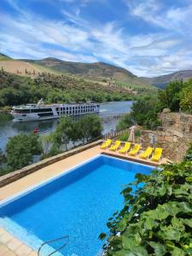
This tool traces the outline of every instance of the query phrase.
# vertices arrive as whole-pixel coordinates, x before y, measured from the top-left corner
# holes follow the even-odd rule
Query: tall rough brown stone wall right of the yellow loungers
[[[142,131],[143,148],[150,144],[150,134],[157,137],[157,147],[163,148],[163,157],[180,161],[192,143],[192,115],[186,113],[160,113],[159,131]]]

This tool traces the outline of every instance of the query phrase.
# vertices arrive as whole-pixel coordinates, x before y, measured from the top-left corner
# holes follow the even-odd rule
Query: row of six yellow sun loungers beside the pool
[[[102,143],[101,148],[106,149],[108,148],[111,151],[117,151],[122,142],[121,141],[116,141],[113,143],[111,139],[108,139],[105,143]],[[126,142],[122,148],[119,149],[120,154],[129,154],[131,156],[136,156],[141,149],[140,144],[135,144],[133,148],[131,148],[131,143]],[[141,154],[139,154],[139,158],[147,160],[151,156],[151,160],[153,161],[159,161],[161,158],[163,149],[162,148],[151,148],[148,147],[146,150],[144,150]]]

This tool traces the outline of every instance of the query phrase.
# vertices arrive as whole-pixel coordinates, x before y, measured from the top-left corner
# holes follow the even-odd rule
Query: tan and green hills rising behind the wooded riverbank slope
[[[9,57],[8,57],[9,58]],[[94,81],[103,86],[119,86],[134,93],[137,91],[155,90],[154,86],[138,78],[125,68],[116,67],[104,62],[81,63],[61,61],[56,58],[43,60],[0,59],[0,68],[9,73],[21,76],[37,77],[41,73],[52,73],[69,77],[83,78],[87,82]]]

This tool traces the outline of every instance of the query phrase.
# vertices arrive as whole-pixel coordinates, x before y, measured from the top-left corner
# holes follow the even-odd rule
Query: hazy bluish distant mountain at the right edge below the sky
[[[154,78],[142,78],[146,83],[152,84],[158,88],[164,88],[166,84],[169,84],[173,80],[186,81],[192,78],[192,70],[177,71],[175,73],[170,73],[167,75],[154,77]]]

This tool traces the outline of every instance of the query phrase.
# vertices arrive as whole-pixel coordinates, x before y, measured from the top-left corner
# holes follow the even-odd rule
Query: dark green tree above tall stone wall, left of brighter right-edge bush
[[[173,81],[164,90],[159,90],[159,100],[163,108],[170,108],[177,112],[180,108],[180,93],[183,90],[183,81]]]

